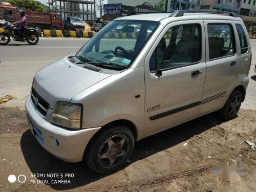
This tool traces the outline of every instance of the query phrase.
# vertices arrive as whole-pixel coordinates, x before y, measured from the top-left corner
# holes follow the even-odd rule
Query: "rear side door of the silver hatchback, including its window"
[[[232,20],[204,20],[207,74],[200,114],[221,108],[239,74],[240,43]]]

